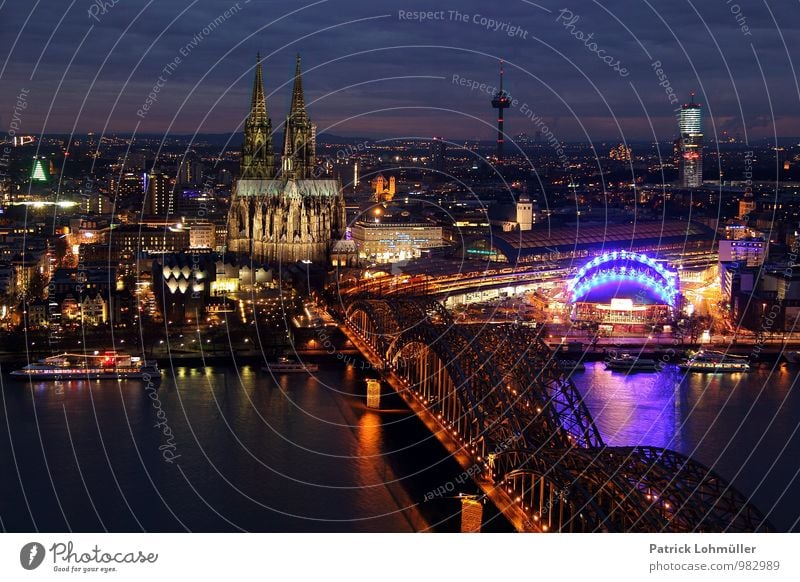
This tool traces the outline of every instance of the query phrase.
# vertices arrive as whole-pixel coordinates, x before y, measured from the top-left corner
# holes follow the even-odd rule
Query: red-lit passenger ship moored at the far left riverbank
[[[15,378],[31,380],[159,380],[161,371],[154,361],[118,352],[59,354],[14,370]]]

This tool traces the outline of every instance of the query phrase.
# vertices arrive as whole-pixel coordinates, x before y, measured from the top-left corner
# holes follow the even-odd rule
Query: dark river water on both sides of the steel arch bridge
[[[31,385],[4,365],[0,529],[457,531],[457,499],[425,501],[447,483],[476,492],[444,448],[398,398],[366,409],[357,368],[309,361],[313,377],[176,363],[154,390]],[[800,529],[797,371],[625,376],[597,362],[574,381],[608,444],[691,455],[787,531]]]

